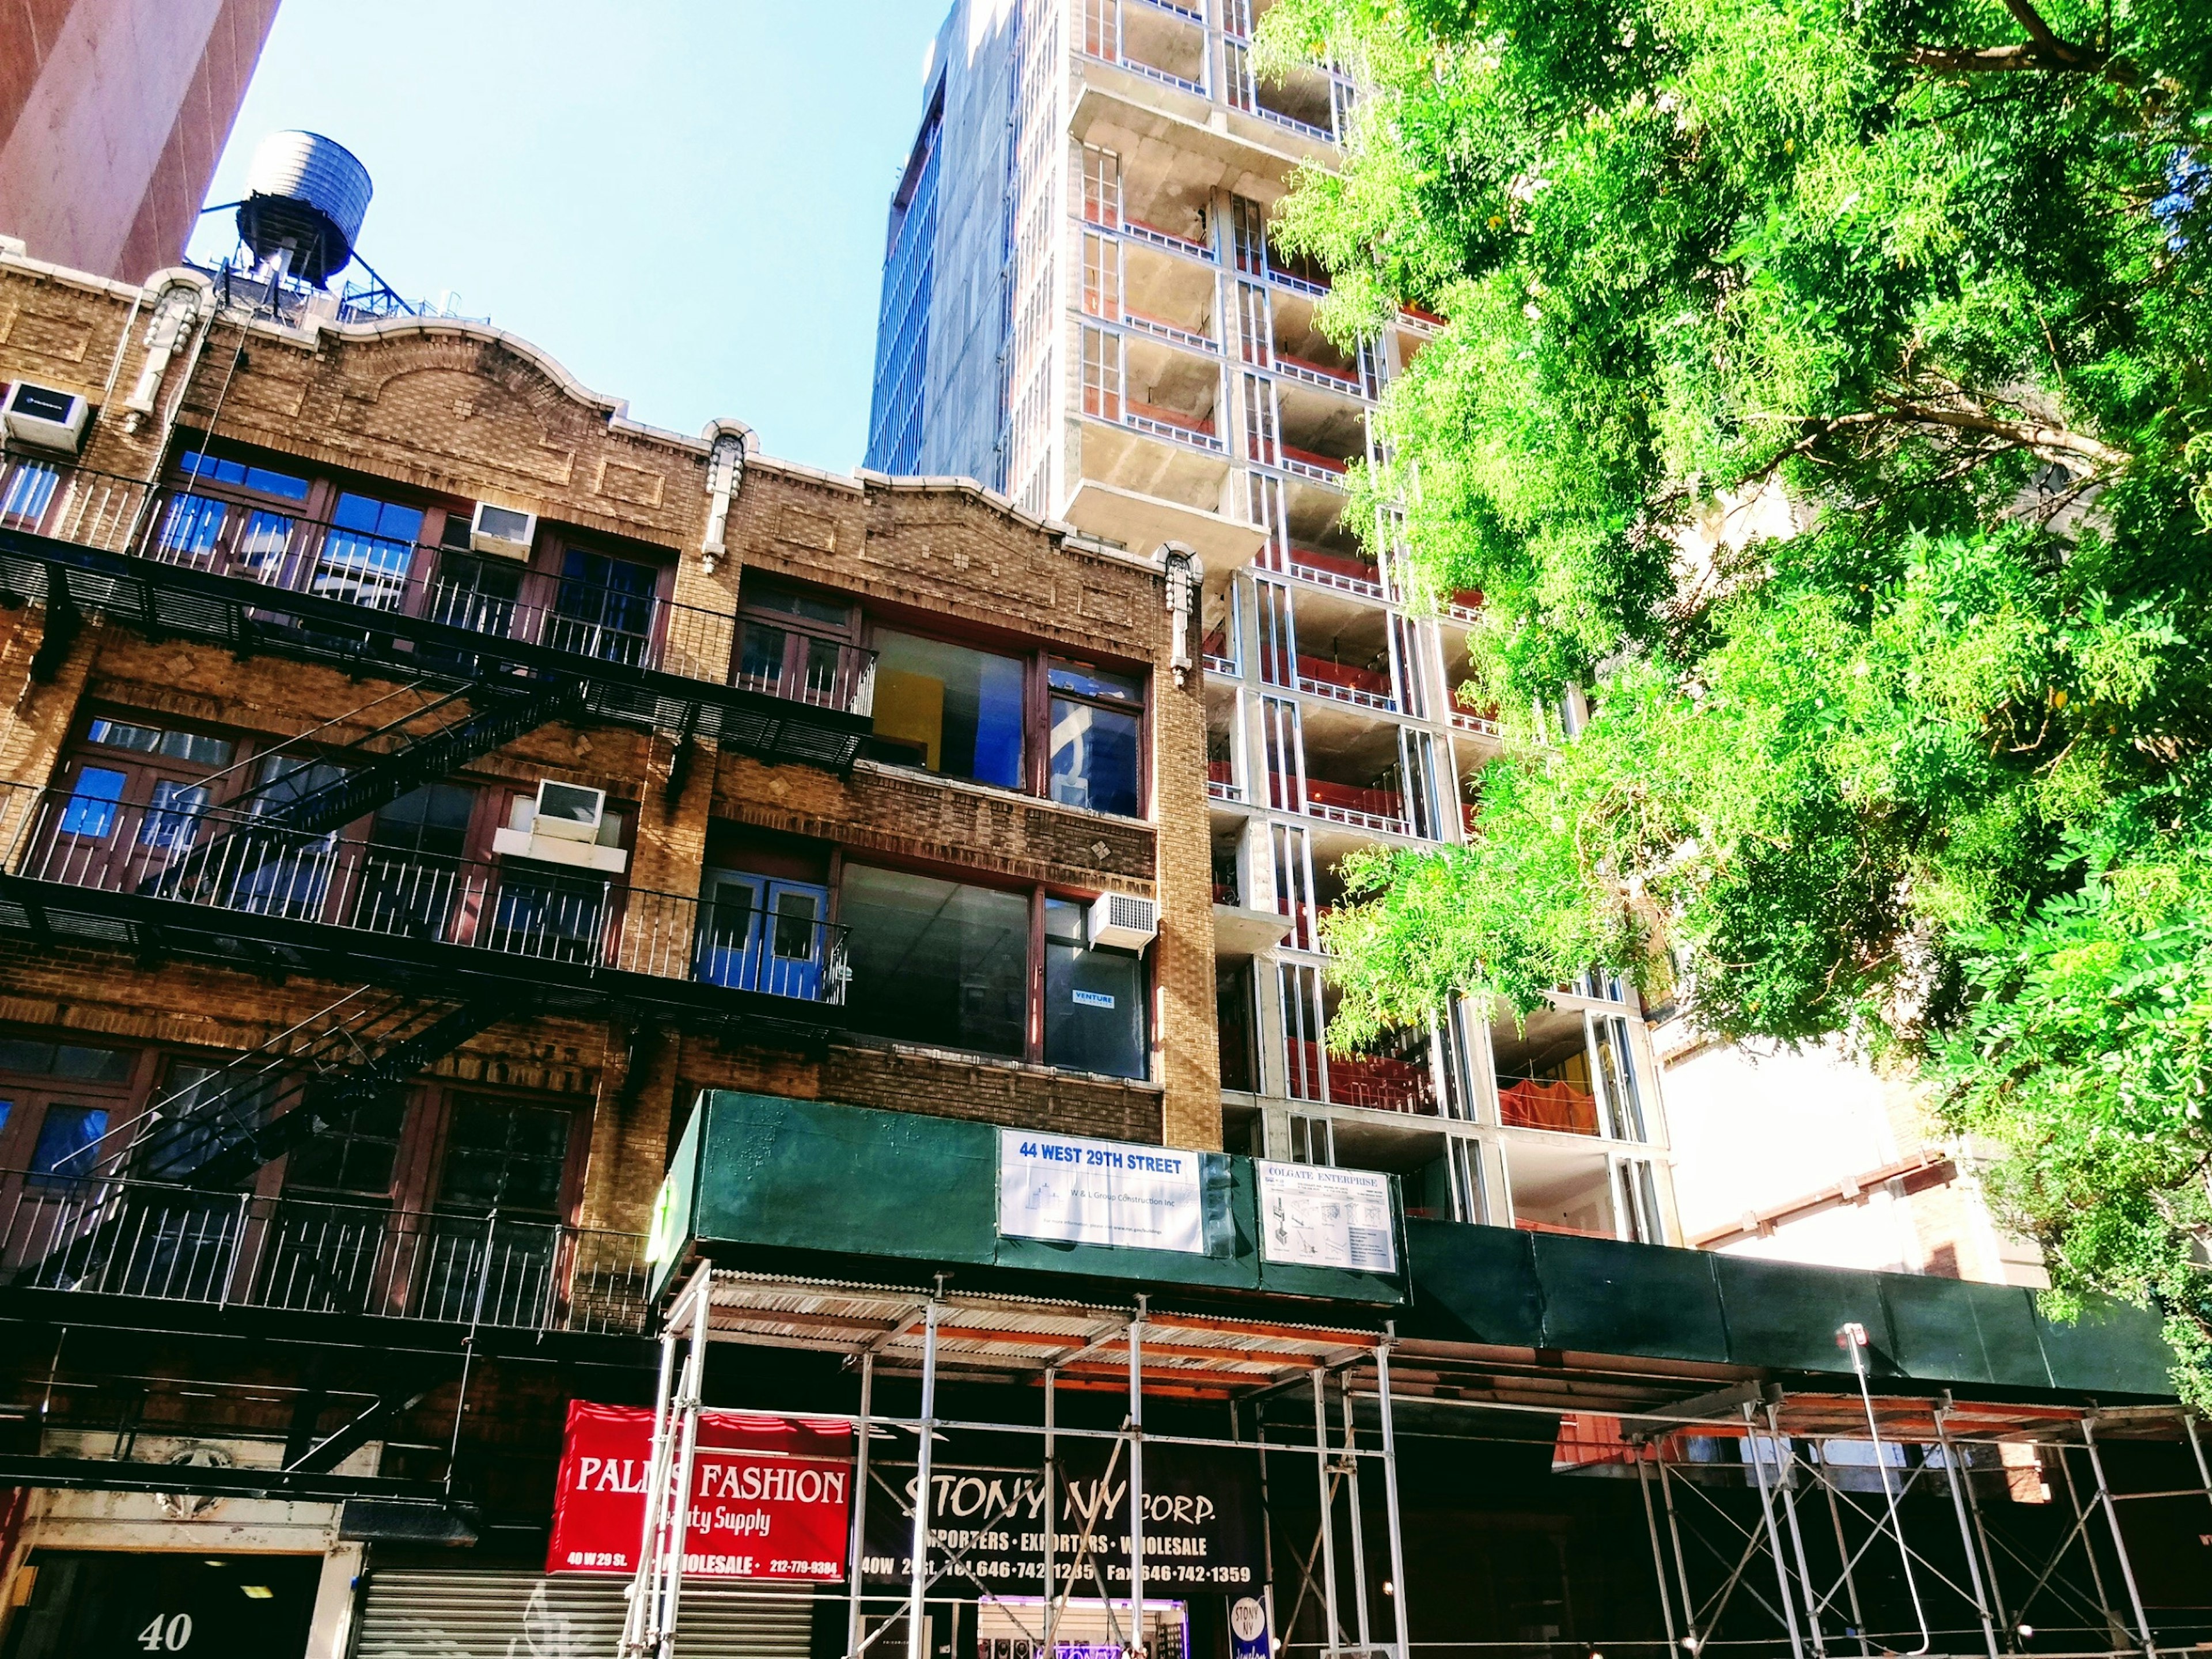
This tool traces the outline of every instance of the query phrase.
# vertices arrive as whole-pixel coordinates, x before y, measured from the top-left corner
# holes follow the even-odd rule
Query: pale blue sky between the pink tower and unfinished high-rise
[[[210,201],[303,126],[376,179],[361,252],[630,416],[860,462],[883,221],[945,0],[283,0]],[[201,221],[223,252],[230,215]]]

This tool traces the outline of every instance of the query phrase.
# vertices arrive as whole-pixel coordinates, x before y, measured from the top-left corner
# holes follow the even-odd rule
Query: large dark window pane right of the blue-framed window
[[[1029,900],[991,887],[847,865],[847,1006],[878,1037],[1022,1055]]]

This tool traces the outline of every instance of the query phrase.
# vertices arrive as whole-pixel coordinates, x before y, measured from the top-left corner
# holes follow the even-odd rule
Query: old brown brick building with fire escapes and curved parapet
[[[190,270],[0,380],[7,1652],[529,1568],[701,1088],[1221,1144],[1175,555]]]

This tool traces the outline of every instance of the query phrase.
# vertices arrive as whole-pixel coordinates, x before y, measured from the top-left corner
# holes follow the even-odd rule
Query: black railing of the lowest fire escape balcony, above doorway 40
[[[535,1332],[648,1312],[633,1232],[66,1170],[0,1170],[0,1285]]]

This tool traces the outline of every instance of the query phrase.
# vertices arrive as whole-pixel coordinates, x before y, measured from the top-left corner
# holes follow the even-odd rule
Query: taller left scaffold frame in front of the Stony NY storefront
[[[1148,1345],[1157,1336],[1157,1345]],[[1172,1389],[1188,1394],[1194,1387],[1243,1387],[1272,1391],[1296,1387],[1303,1380],[1314,1385],[1314,1464],[1323,1491],[1321,1546],[1329,1555],[1323,1575],[1323,1608],[1332,1632],[1327,1655],[1352,1659],[1356,1655],[1391,1655],[1411,1659],[1411,1644],[1405,1628],[1405,1544],[1398,1531],[1398,1467],[1396,1425],[1391,1420],[1389,1349],[1391,1334],[1349,1332],[1329,1327],[1281,1325],[1259,1321],[1234,1321],[1194,1314],[1152,1312],[1146,1296],[1135,1296],[1130,1307],[1099,1307],[1073,1301],[1044,1301],[1020,1296],[978,1296],[949,1292],[940,1283],[933,1292],[914,1292],[874,1285],[825,1285],[807,1281],[776,1281],[752,1274],[701,1267],[675,1296],[661,1334],[659,1383],[653,1400],[653,1451],[648,1460],[646,1520],[639,1540],[637,1573],[628,1586],[628,1613],[624,1619],[624,1659],[675,1659],[677,1617],[684,1588],[684,1551],[690,1533],[690,1506],[675,1502],[677,1493],[692,1486],[695,1455],[699,1447],[701,1387],[706,1354],[712,1343],[763,1343],[779,1347],[810,1347],[843,1352],[860,1376],[860,1409],[856,1413],[810,1411],[821,1422],[849,1422],[856,1433],[854,1447],[854,1502],[847,1540],[845,1584],[845,1659],[863,1659],[869,1648],[896,1624],[887,1619],[874,1635],[863,1632],[865,1590],[865,1537],[867,1504],[872,1495],[889,1498],[911,1524],[911,1564],[907,1590],[898,1601],[907,1626],[907,1659],[929,1659],[925,1601],[947,1577],[960,1577],[980,1604],[991,1604],[1009,1613],[1029,1639],[1044,1652],[1053,1650],[1060,1621],[1066,1617],[1068,1599],[1084,1584],[1088,1571],[1097,1601],[1104,1604],[1113,1641],[1130,1657],[1144,1659],[1144,1608],[1146,1608],[1146,1544],[1144,1544],[1144,1453],[1148,1444],[1168,1447],[1228,1447],[1250,1451],[1265,1462],[1267,1451],[1283,1453],[1283,1442],[1234,1438],[1203,1438],[1183,1433],[1152,1433],[1144,1425],[1146,1389]],[[916,1416],[900,1418],[874,1409],[874,1387],[878,1363],[896,1354],[909,1374],[918,1369],[920,1407]],[[938,1380],[951,1363],[964,1380],[1033,1380],[1044,1389],[1042,1422],[967,1422],[938,1416]],[[1343,1374],[1356,1365],[1374,1365],[1376,1391],[1360,1391],[1363,1400],[1374,1400],[1380,1411],[1380,1447],[1356,1447],[1352,1427],[1352,1391],[1343,1387]],[[1128,1391],[1128,1407],[1117,1429],[1075,1429],[1057,1420],[1057,1389],[1064,1380],[1082,1380],[1097,1387],[1104,1378],[1115,1378]],[[1334,1442],[1327,1425],[1327,1380],[1340,1380],[1343,1440]],[[942,1553],[942,1564],[931,1571],[929,1562],[929,1493],[931,1455],[936,1440],[947,1429],[1035,1436],[1044,1453],[1044,1575],[1046,1597],[1042,1630],[1029,1630],[1022,1615],[1033,1615],[1029,1601],[1009,1601],[991,1586],[967,1571],[964,1548]],[[891,1486],[872,1467],[872,1440],[883,1431],[911,1433],[916,1438],[916,1502]],[[1062,1480],[1062,1440],[1108,1440],[1106,1480],[1117,1467],[1128,1469],[1128,1557],[1130,1582],[1126,1597],[1115,1595],[1106,1584],[1104,1566],[1091,1551],[1097,1504],[1084,1511],[1084,1524],[1075,1542],[1075,1559],[1055,1559],[1057,1540],[1057,1486]],[[1349,1517],[1356,1584],[1356,1641],[1340,1641],[1343,1619],[1338,1608],[1334,1568],[1334,1482],[1358,1469],[1358,1460],[1380,1462],[1385,1486],[1385,1528],[1389,1562],[1396,1584],[1391,1637],[1376,1641],[1369,1635],[1365,1535],[1358,1511],[1358,1480],[1349,1480]],[[874,1489],[874,1491],[872,1491]],[[1263,1590],[1272,1615],[1272,1586]],[[1128,1608],[1128,1628],[1115,1617],[1115,1606]],[[1296,1615],[1294,1615],[1296,1617]]]

